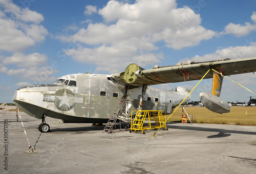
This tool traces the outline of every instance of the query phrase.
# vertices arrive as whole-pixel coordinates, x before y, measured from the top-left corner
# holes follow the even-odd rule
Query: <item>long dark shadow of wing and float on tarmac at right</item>
[[[220,129],[220,128],[208,128],[208,127],[191,127],[191,126],[176,126],[173,124],[167,124],[168,128],[173,129],[185,129],[185,130],[198,130],[204,132],[216,132],[217,135],[208,136],[207,138],[221,138],[228,137],[231,134],[244,134],[244,135],[256,135],[256,132],[248,132],[243,130],[228,130],[228,129]]]

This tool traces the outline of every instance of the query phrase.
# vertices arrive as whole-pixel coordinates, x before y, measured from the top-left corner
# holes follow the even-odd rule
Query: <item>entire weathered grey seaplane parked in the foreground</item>
[[[171,113],[190,90],[182,87],[168,92],[150,85],[213,78],[212,93],[200,93],[205,107],[216,113],[230,111],[229,104],[220,98],[222,75],[235,75],[256,71],[256,58],[178,63],[175,66],[145,70],[130,64],[124,72],[111,75],[70,74],[51,84],[23,86],[16,90],[13,101],[25,113],[41,119],[40,132],[49,132],[46,116],[73,123],[106,123],[115,105],[128,100],[122,117],[128,118],[134,110],[164,110]],[[213,73],[213,75],[212,75]],[[190,100],[190,96],[184,102]],[[119,114],[118,113],[118,114]],[[121,119],[121,117],[119,117]]]

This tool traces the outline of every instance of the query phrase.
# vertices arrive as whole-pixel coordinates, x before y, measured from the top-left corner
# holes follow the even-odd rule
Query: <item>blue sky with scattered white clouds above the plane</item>
[[[0,0],[0,102],[15,89],[66,74],[111,74],[187,60],[256,57],[256,2]],[[256,74],[231,76],[256,92]],[[197,81],[156,86],[192,89]],[[211,91],[203,80],[191,95]],[[224,79],[221,97],[255,96]]]

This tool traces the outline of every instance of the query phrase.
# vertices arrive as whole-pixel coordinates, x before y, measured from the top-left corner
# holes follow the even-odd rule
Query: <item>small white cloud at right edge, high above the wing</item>
[[[252,31],[255,31],[256,30],[256,24],[255,24],[256,12],[252,13],[251,20],[253,21],[254,24],[245,23],[245,25],[241,25],[241,24],[229,23],[224,29],[224,34],[233,34],[233,35],[236,35],[237,37],[241,37],[249,34]]]

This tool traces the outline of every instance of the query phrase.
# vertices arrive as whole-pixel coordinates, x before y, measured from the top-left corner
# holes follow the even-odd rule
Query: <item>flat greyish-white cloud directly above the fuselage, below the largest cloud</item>
[[[162,54],[144,53],[137,56],[137,47],[120,42],[115,46],[102,45],[96,48],[83,48],[67,50],[66,54],[74,60],[84,63],[95,63],[98,70],[116,73],[123,71],[128,64],[137,63],[139,66],[148,66],[158,63]],[[122,63],[120,63],[122,62]]]

